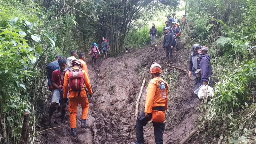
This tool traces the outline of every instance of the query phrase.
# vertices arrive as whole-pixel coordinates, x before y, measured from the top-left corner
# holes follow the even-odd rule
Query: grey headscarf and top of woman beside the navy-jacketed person
[[[201,49],[201,46],[199,44],[194,44],[193,45],[193,49],[192,49],[193,52],[190,55],[190,60],[189,60],[189,71],[199,69],[200,61],[197,58],[200,57],[200,54],[196,53],[196,47]]]

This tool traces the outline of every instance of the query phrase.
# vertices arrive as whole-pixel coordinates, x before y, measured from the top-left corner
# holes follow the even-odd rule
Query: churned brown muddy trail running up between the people
[[[176,66],[188,71],[190,49],[183,48],[174,55]],[[77,109],[77,137],[70,136],[69,116],[60,123],[60,112],[52,116],[51,130],[41,133],[38,143],[45,144],[128,144],[136,141],[135,102],[143,78],[146,83],[140,98],[139,112],[144,109],[146,88],[150,81],[150,65],[159,63],[167,72],[179,71],[165,64],[162,46],[145,47],[115,58],[99,59],[98,65],[88,60],[88,71],[93,95],[89,99],[89,113],[86,123],[89,128],[80,128],[82,109]],[[163,77],[163,79],[165,79]],[[169,85],[169,104],[166,115],[164,143],[176,144],[196,126],[196,107],[200,104],[193,94],[194,82],[187,73],[179,71],[176,84]],[[51,94],[45,103],[41,124],[48,117]],[[43,125],[41,125],[43,127]],[[60,128],[54,128],[58,127]],[[41,128],[40,131],[47,127]],[[144,128],[145,143],[154,144],[152,122]],[[188,142],[190,143],[190,142]],[[191,142],[192,143],[192,142]]]

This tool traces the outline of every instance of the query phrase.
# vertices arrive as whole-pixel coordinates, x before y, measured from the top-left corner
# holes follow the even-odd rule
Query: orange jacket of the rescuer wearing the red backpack
[[[78,69],[78,68],[73,68],[73,69]],[[88,93],[92,94],[92,86],[90,83],[90,79],[88,77],[88,75],[86,74],[85,70],[82,69],[82,72],[84,74],[84,87],[87,87],[88,89]],[[64,77],[64,84],[63,84],[63,98],[73,98],[75,95],[78,95],[78,92],[76,91],[71,91],[72,89],[68,88],[68,81],[69,81],[69,70],[65,73],[65,77]],[[69,91],[69,94],[68,94]],[[80,92],[80,96],[81,97],[86,97],[86,91],[84,88],[82,88],[81,92]]]

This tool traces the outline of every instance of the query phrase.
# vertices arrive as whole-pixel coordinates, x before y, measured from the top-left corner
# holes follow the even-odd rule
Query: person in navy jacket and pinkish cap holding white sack
[[[212,76],[211,56],[208,54],[208,48],[203,46],[198,53],[201,54],[198,58],[200,60],[199,68],[201,68],[201,78],[196,84],[194,91],[201,85],[207,85],[209,77]],[[209,86],[213,88],[212,82],[209,83]]]

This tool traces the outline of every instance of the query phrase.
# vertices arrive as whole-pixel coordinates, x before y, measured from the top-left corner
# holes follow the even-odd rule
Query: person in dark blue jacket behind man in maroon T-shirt
[[[59,69],[60,66],[59,66],[59,63],[58,63],[58,60],[61,58],[60,55],[56,55],[55,56],[55,60],[50,62],[48,65],[47,65],[47,81],[48,81],[48,86],[49,86],[49,91],[51,91],[53,93],[53,90],[52,90],[52,72],[56,69]]]

